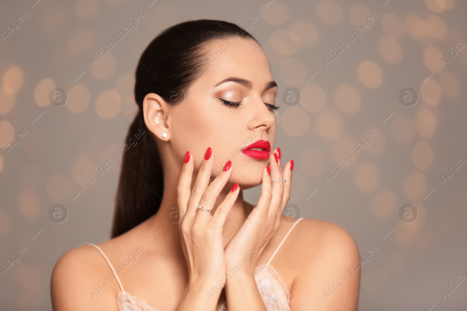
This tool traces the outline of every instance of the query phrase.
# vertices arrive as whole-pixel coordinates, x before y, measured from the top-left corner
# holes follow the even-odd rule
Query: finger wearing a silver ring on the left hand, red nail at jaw
[[[206,188],[201,199],[199,200],[199,205],[207,209],[212,209],[216,203],[217,197],[220,192],[226,186],[227,181],[232,174],[232,161],[228,160],[222,169],[222,172],[212,180],[211,184]],[[202,221],[203,223],[208,220],[211,213],[206,211],[197,211],[195,221]]]

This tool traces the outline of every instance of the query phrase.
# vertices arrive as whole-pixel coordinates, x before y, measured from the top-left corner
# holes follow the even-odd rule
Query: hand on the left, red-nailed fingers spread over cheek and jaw
[[[203,288],[203,292],[211,290],[211,286],[220,290],[226,282],[226,261],[222,230],[227,214],[238,197],[238,185],[235,191],[229,191],[226,198],[212,212],[199,210],[198,205],[213,209],[216,199],[232,173],[232,162],[228,161],[224,170],[209,184],[214,163],[211,148],[206,150],[198,175],[191,189],[194,160],[190,152],[185,155],[180,179],[177,185],[177,203],[184,209],[185,216],[179,223],[182,236],[182,247],[188,264],[189,283]],[[226,169],[226,170],[225,170]],[[234,188],[235,188],[234,186]],[[219,284],[221,287],[219,287]],[[201,289],[200,289],[201,290]],[[213,293],[214,294],[214,293]],[[206,297],[206,296],[205,296]],[[211,300],[211,299],[210,299]],[[217,299],[214,299],[217,302]]]

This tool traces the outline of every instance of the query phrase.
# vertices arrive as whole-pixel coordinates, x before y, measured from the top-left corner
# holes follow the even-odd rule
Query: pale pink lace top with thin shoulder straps
[[[289,289],[287,288],[279,273],[277,273],[276,269],[274,269],[270,263],[274,256],[276,256],[277,251],[280,249],[292,229],[302,219],[303,218],[298,219],[298,221],[292,225],[292,227],[277,246],[272,256],[269,258],[268,263],[259,265],[255,268],[256,286],[258,287],[261,298],[268,311],[290,311]],[[110,263],[110,260],[107,258],[104,251],[102,251],[102,249],[100,249],[99,246],[95,244],[90,243],[90,245],[99,250],[112,270],[113,275],[117,279],[117,282],[119,283],[121,291],[117,295],[117,304],[120,311],[160,311],[159,309],[149,305],[146,300],[132,296],[129,292],[125,291],[116,271],[113,269],[112,263]],[[221,305],[219,311],[227,311],[226,302]]]

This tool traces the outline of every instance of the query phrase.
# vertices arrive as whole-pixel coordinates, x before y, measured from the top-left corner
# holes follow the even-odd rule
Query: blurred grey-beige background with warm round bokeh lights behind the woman
[[[362,255],[378,247],[362,267],[359,310],[466,310],[466,282],[444,300],[440,294],[467,277],[465,1],[21,0],[0,7],[1,265],[27,247],[0,276],[2,310],[50,310],[57,259],[109,238],[120,163],[94,184],[89,175],[124,144],[136,112],[137,59],[163,29],[201,18],[253,25],[269,57],[281,106],[276,146],[295,160],[295,207],[285,212],[339,224]],[[92,67],[94,53],[139,12],[137,28]],[[261,17],[246,25],[256,12]],[[350,42],[346,36],[373,12],[370,28]],[[349,46],[326,66],[343,41]],[[65,105],[58,93],[50,100],[55,88]],[[374,128],[371,144],[350,159],[346,152]],[[349,163],[326,182],[344,157]],[[255,203],[258,187],[244,196]],[[56,204],[61,210],[51,209]]]

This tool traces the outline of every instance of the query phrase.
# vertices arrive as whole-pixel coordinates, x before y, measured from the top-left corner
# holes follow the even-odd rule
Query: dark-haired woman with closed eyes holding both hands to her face
[[[54,310],[356,310],[359,272],[333,285],[359,259],[352,237],[282,217],[293,160],[270,148],[276,91],[262,48],[232,23],[157,36],[136,69],[138,143],[123,156],[113,238],[60,258]],[[260,183],[253,207],[241,190]]]

